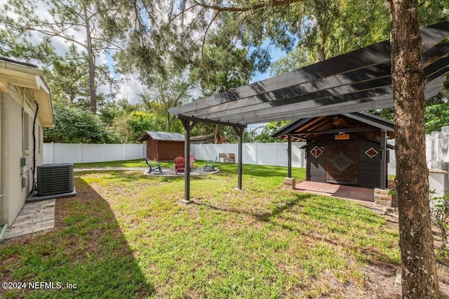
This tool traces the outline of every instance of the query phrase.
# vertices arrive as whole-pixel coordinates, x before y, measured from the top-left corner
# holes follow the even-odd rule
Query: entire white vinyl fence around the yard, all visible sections
[[[305,168],[305,152],[300,147],[304,142],[292,142],[292,166]],[[389,140],[394,145],[394,140]],[[86,163],[100,161],[119,161],[143,159],[147,152],[147,145],[86,145],[66,143],[44,143],[43,163]],[[287,143],[244,143],[243,164],[287,166]],[[222,145],[191,145],[191,152],[195,159],[214,160],[218,154],[233,153],[235,161],[239,160],[237,144]],[[449,170],[449,126],[441,132],[433,132],[426,136],[426,156],[429,168]],[[388,173],[396,173],[396,159],[394,150],[389,151]]]

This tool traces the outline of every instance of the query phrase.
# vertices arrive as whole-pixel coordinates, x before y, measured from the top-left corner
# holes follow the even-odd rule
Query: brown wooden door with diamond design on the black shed
[[[358,140],[326,142],[326,182],[358,185]]]

